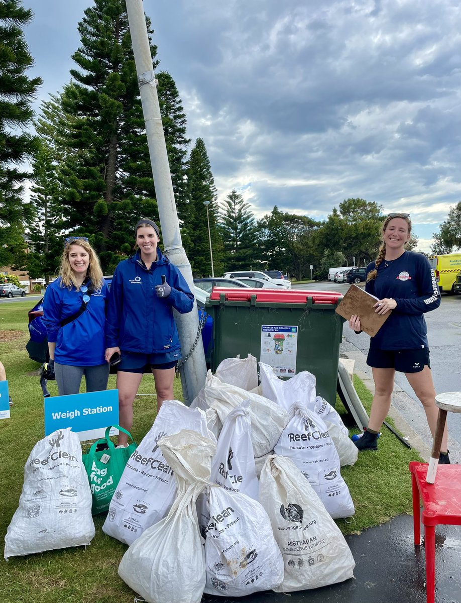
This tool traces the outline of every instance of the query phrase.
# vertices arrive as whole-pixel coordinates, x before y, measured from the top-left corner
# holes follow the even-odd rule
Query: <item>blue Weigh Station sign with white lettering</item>
[[[119,423],[119,391],[92,391],[45,398],[45,435],[72,428],[80,441],[103,437],[105,428]]]

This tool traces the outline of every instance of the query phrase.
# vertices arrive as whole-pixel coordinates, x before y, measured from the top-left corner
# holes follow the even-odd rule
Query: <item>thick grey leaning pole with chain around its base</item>
[[[172,264],[179,268],[190,290],[193,291],[192,269],[187,259],[186,251],[184,251],[183,242],[181,241],[144,8],[142,0],[126,0],[126,4],[134,63],[139,83],[139,94],[146,124],[152,175],[155,182],[158,215],[160,216],[160,225],[162,226],[163,248],[165,255],[171,260]],[[174,317],[178,325],[181,352],[185,357],[192,349],[198,332],[199,325],[196,303],[194,302],[192,312],[179,314],[177,311],[174,311]],[[181,368],[180,374],[184,402],[190,405],[199,390],[203,387],[207,375],[205,354],[200,336],[197,339],[192,355]]]

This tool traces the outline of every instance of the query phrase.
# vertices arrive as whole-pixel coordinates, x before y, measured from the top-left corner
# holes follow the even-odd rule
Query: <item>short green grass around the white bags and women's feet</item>
[[[0,421],[0,533],[3,541],[24,479],[24,465],[34,444],[44,433],[43,397],[37,370],[25,351],[28,341],[27,312],[31,301],[1,305],[0,359],[5,365],[14,406],[11,418]],[[5,333],[6,331],[6,333]],[[9,333],[8,333],[9,332]],[[16,338],[11,339],[10,335]],[[19,333],[18,333],[19,332]],[[5,341],[8,339],[8,341]],[[354,385],[369,411],[371,394],[357,377]],[[182,399],[180,379],[175,379],[175,396]],[[109,388],[115,387],[111,376]],[[57,394],[50,383],[52,395]],[[152,376],[145,375],[140,393],[152,394]],[[138,397],[134,403],[133,437],[142,440],[155,418],[155,397]],[[340,414],[345,411],[336,404]],[[345,418],[345,417],[344,417]],[[388,419],[390,422],[390,420]],[[356,430],[351,430],[351,433]],[[421,460],[386,428],[382,429],[378,452],[363,452],[354,467],[343,467],[356,514],[337,523],[343,533],[360,532],[395,515],[412,512],[408,463]],[[49,551],[29,557],[0,561],[0,593],[5,603],[132,603],[133,592],[119,578],[117,569],[127,549],[102,532],[104,516],[95,517],[96,536],[84,548]],[[174,576],[172,577],[174,579]]]

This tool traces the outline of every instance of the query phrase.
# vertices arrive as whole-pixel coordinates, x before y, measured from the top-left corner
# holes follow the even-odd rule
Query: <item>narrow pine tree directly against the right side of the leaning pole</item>
[[[163,133],[170,165],[173,192],[178,218],[184,213],[187,195],[186,156],[190,138],[186,138],[186,113],[184,113],[174,79],[167,71],[157,74],[158,102],[162,115]]]

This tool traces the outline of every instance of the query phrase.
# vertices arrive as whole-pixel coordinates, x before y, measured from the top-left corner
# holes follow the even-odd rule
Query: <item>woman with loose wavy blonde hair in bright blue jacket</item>
[[[50,365],[60,396],[78,394],[83,375],[86,391],[107,388],[109,366],[104,357],[107,295],[98,256],[88,239],[67,238],[59,277],[46,288],[43,300]],[[83,308],[78,317],[66,320]]]

